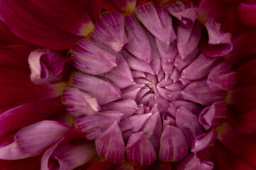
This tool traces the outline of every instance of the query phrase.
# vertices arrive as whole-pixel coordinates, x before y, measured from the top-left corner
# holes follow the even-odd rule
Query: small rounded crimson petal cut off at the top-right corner
[[[241,3],[238,6],[238,18],[245,26],[256,25],[256,5]]]

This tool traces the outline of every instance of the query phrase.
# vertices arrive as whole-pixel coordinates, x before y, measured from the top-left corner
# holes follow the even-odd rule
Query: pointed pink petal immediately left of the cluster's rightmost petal
[[[182,70],[181,78],[195,80],[206,77],[218,61],[218,58],[201,54],[188,67]]]

